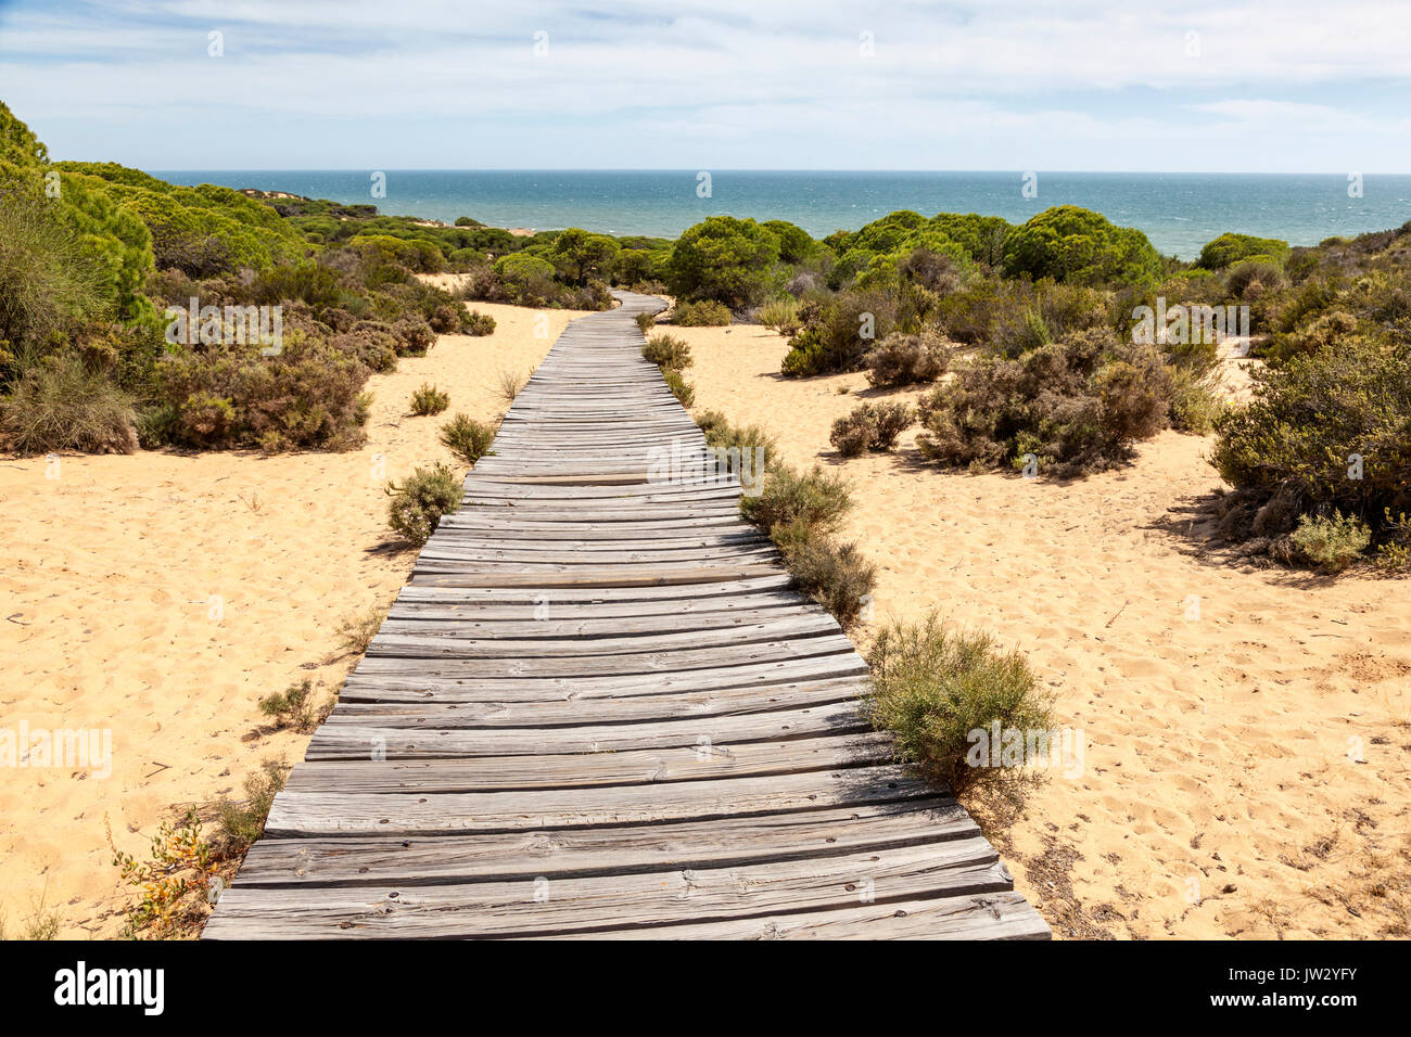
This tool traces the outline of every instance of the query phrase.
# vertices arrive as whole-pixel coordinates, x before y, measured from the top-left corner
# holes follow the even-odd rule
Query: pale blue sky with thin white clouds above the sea
[[[0,0],[145,169],[1411,172],[1411,3]]]

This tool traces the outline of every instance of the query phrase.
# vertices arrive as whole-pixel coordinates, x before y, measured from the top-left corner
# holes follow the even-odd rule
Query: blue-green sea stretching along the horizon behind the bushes
[[[1095,209],[1139,227],[1167,255],[1194,258],[1226,230],[1311,245],[1326,237],[1400,227],[1411,220],[1411,176],[1366,175],[1360,198],[1345,175],[1038,172],[1026,198],[1016,172],[713,171],[701,196],[696,171],[389,169],[387,196],[365,171],[181,171],[174,183],[286,190],[371,203],[391,216],[495,227],[586,227],[610,234],[676,237],[706,216],[797,223],[816,237],[855,230],[896,209],[985,213],[1020,223],[1055,205]]]

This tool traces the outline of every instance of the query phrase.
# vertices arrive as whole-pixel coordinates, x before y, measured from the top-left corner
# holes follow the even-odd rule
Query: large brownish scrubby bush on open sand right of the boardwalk
[[[943,464],[1020,467],[1031,454],[1058,477],[1125,460],[1164,427],[1171,375],[1150,346],[1075,332],[1017,360],[981,356],[921,401],[923,456]]]

